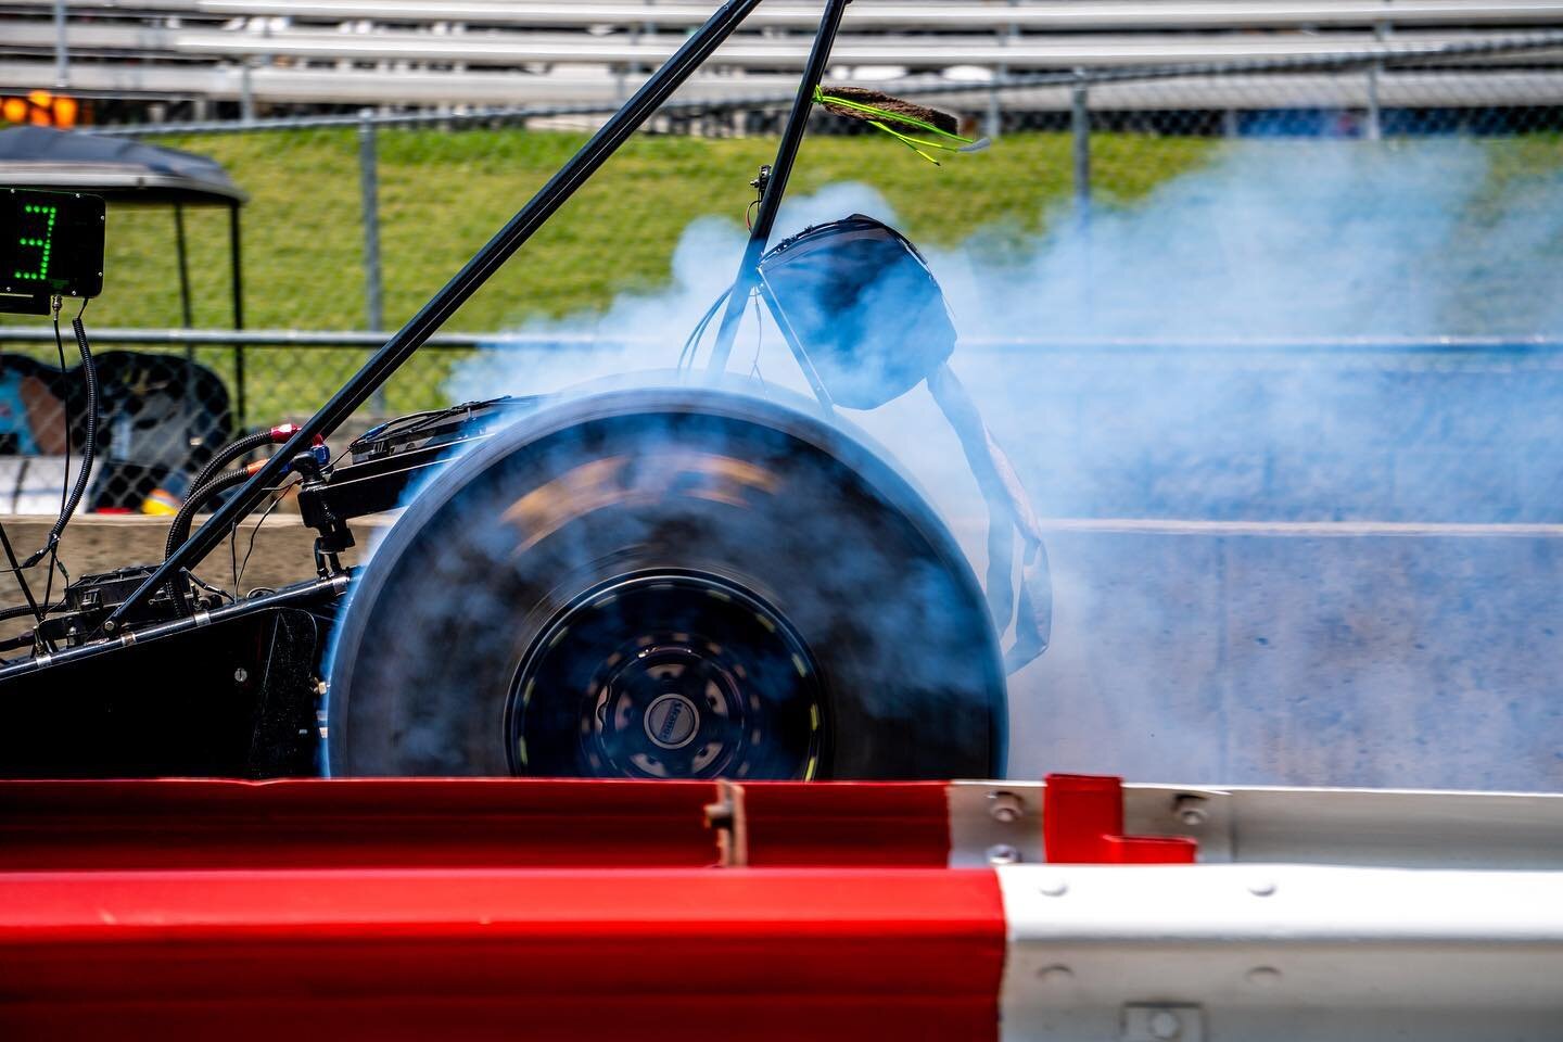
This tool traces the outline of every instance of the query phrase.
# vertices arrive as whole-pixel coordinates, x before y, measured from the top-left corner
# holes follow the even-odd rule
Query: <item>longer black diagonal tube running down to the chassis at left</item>
[[[841,8],[847,0],[828,0],[832,8]],[[678,86],[689,78],[706,58],[711,56],[722,41],[736,30],[749,14],[760,6],[761,0],[728,0],[706,19],[689,39],[685,41],[672,58],[647,80],[628,102],[624,103],[613,117],[603,123],[602,130],[592,134],[581,150],[570,156],[558,173],[522,206],[514,217],[478,250],[456,275],[435,294],[424,308],[403,325],[384,347],[374,353],[342,387],[331,395],[319,412],[311,416],[299,428],[288,444],[270,458],[270,461],[255,472],[250,480],[222,508],[214,512],[205,525],[184,541],[147,581],[125,598],[114,612],[103,620],[103,631],[113,634],[130,609],[152,595],[158,586],[178,575],[180,569],[191,569],[199,564],[219,542],[228,528],[255,509],[266,495],[266,491],[283,476],[289,462],[299,453],[308,451],[314,437],[331,434],[353,409],[372,395],[424,342],[439,330],[455,314],[474,292],[478,291],[500,269],[510,256],[541,228],[549,217],[564,205],[575,191],[585,184],[606,159],[617,152],[630,134],[655,112],[663,102],[672,95]],[[839,16],[838,16],[839,17]],[[807,106],[813,100],[813,86],[805,84],[799,91],[797,105]],[[807,112],[805,112],[807,114]],[[792,145],[794,152],[797,144]],[[769,195],[771,192],[767,192]],[[778,194],[780,195],[780,194]],[[0,680],[5,672],[0,670]]]

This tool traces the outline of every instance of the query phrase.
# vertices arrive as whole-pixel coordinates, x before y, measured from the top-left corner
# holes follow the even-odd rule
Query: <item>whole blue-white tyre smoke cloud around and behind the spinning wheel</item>
[[[1069,530],[1563,522],[1563,373],[1532,347],[1563,337],[1563,172],[1496,155],[1249,141],[1138,205],[1047,214],[1021,248],[1011,230],[974,228],[925,250],[963,336],[952,367],[1038,514],[1077,519],[1053,555],[1053,650],[1011,683],[1013,773],[1563,783],[1563,722],[1544,705],[1563,648],[1519,625],[1563,608],[1550,537],[1493,550],[1440,530],[1336,553]],[[838,184],[789,198],[775,239],[850,212],[902,219],[872,187]],[[530,323],[561,347],[483,353],[452,395],[669,369],[742,242],[735,222],[694,222],[664,291]],[[1440,350],[1447,336],[1491,350]],[[746,319],[730,369],[807,391],[769,319]],[[983,503],[927,392],[850,420],[980,573]]]

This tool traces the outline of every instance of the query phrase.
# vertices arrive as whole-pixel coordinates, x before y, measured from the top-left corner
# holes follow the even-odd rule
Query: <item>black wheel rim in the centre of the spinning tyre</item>
[[[511,770],[608,778],[821,776],[825,686],[786,619],[680,572],[569,601],[522,656]]]

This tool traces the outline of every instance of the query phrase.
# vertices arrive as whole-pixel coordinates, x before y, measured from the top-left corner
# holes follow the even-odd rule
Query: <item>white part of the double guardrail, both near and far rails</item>
[[[1041,864],[1043,786],[950,787],[996,864],[1007,1042],[1563,1037],[1563,797],[1124,786],[1196,865]],[[1002,811],[1002,812],[1000,812]]]

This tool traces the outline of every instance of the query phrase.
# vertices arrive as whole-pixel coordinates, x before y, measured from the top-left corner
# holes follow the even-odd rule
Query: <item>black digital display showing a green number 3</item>
[[[0,189],[0,294],[103,292],[103,216],[98,195]]]

